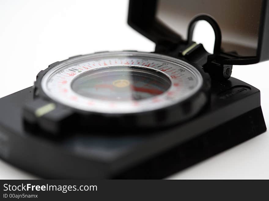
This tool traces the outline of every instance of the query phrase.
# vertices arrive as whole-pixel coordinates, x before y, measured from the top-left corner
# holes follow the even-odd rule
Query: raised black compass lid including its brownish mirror
[[[217,31],[213,27],[216,37],[214,54],[228,55],[229,59],[225,59],[223,61],[224,64],[246,65],[269,60],[269,4],[267,0],[260,0],[259,5],[257,5],[258,1],[251,0],[253,5],[256,4],[255,5],[256,10],[253,11],[254,15],[253,13],[247,12],[249,9],[252,9],[253,6],[252,5],[242,6],[242,2],[240,4],[240,1],[237,1],[237,5],[234,5],[233,9],[231,9],[232,10],[231,12],[233,13],[226,13],[227,10],[224,10],[223,6],[215,6],[215,7],[212,6],[212,2],[209,5],[209,0],[201,1],[203,3],[203,6],[198,4],[196,5],[197,1],[194,0],[188,0],[188,1],[166,0],[160,2],[159,1],[130,0],[129,2],[128,24],[136,31],[146,36],[148,39],[152,40],[154,43],[159,44],[165,42],[166,44],[171,44],[171,46],[177,44],[190,43],[191,42],[190,37],[192,37],[192,31],[196,22],[195,20],[201,20],[201,19],[203,20],[203,18],[207,19],[207,17],[209,17],[209,19],[210,18],[212,19],[212,23],[210,23],[212,27],[214,26],[215,22],[216,26],[219,27],[220,29],[220,37],[219,37],[216,35]],[[214,2],[216,2],[216,5],[218,5],[224,1],[219,0]],[[234,2],[235,1],[230,0],[230,3]],[[248,4],[249,2],[250,1],[248,1]],[[195,6],[193,6],[194,4]],[[160,19],[160,16],[165,17],[165,13],[163,15],[159,14],[160,12],[165,12],[165,9],[161,9],[160,6],[169,8],[167,9],[168,13],[172,14],[172,18],[175,18],[176,24],[179,24],[179,27],[181,27],[180,30],[177,30],[179,31],[179,33],[172,30],[170,28],[171,26],[169,27],[169,21],[165,21],[164,23],[164,20]],[[172,13],[173,10],[176,13]],[[239,13],[235,15],[235,17],[238,16],[239,17],[234,20],[229,15],[230,16],[229,21],[228,18],[229,16],[227,16],[227,14],[234,14],[234,13]],[[256,17],[258,23],[256,25],[257,28],[253,28],[253,24],[249,22],[249,19],[254,20],[253,16],[255,18],[255,15],[258,16]],[[189,16],[189,18],[186,16]],[[234,26],[234,23],[237,22],[238,24],[243,23],[241,28]],[[238,30],[236,30],[237,28]],[[254,47],[255,48],[254,50],[252,47],[252,51],[250,51],[251,48],[248,47],[248,44],[250,44],[251,41],[247,41],[250,40],[247,35],[251,31],[251,29],[256,31],[256,35],[254,37],[254,39],[256,39],[256,45]],[[227,30],[229,32],[227,32]],[[238,32],[242,39],[241,44],[237,44],[237,41],[239,40],[237,40],[237,38],[235,37],[238,36]],[[219,44],[217,44],[218,40]],[[245,44],[247,45],[245,46]]]

